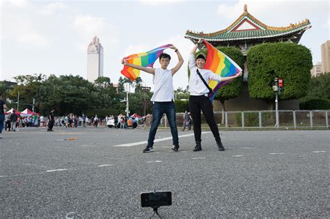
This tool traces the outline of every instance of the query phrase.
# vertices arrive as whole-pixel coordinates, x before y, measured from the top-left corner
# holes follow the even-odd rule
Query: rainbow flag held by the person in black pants
[[[219,74],[220,76],[233,76],[242,71],[242,69],[233,61],[231,58],[223,54],[221,51],[212,46],[212,44],[208,43],[206,40],[203,40],[207,47],[207,58],[204,65],[204,68],[207,70],[211,70],[215,74]],[[211,100],[214,99],[217,91],[227,83],[230,83],[233,80],[229,81],[212,81],[210,80],[208,85],[213,90],[212,93],[209,94]]]

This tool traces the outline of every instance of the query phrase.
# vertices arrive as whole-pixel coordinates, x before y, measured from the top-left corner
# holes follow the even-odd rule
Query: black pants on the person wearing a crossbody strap
[[[196,142],[201,141],[201,111],[204,114],[207,124],[209,125],[213,136],[216,141],[220,140],[219,129],[214,120],[214,113],[212,102],[208,97],[190,96],[189,97],[189,110],[192,120],[194,122],[194,135]]]

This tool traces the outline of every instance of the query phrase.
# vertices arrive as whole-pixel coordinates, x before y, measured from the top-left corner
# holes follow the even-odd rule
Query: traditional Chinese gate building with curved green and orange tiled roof
[[[242,54],[246,56],[247,51],[256,44],[263,42],[294,42],[298,43],[301,36],[307,29],[311,28],[311,22],[305,19],[298,24],[290,24],[285,27],[267,26],[260,22],[260,20],[253,17],[247,10],[247,6],[244,5],[244,12],[240,15],[233,24],[230,24],[226,29],[217,31],[214,33],[203,33],[187,31],[185,38],[190,39],[193,42],[197,42],[199,39],[205,39],[210,42],[214,47],[237,47],[242,51]],[[226,103],[226,111],[237,110],[264,110],[267,109],[267,105],[258,100],[252,100],[249,98],[249,91],[247,89],[248,71],[246,62],[244,64],[244,86],[242,95],[230,99]],[[243,103],[244,104],[243,104]],[[247,105],[246,105],[246,104]],[[228,105],[227,105],[228,104]],[[282,107],[281,107],[282,104]],[[280,104],[282,109],[299,109],[298,101],[283,101]],[[216,104],[218,105],[218,104]],[[219,110],[219,108],[215,108]]]

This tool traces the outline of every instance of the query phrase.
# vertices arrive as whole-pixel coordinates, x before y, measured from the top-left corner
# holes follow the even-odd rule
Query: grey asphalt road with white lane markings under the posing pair
[[[161,130],[143,154],[127,144],[148,130],[54,130],[3,131],[0,218],[150,218],[140,194],[152,190],[172,192],[163,218],[330,217],[329,131],[221,131],[224,152],[210,132],[192,152],[193,132],[179,131],[173,152]]]

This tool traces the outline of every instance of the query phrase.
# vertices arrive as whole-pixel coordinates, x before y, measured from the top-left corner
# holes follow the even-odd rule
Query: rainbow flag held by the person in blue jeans
[[[157,58],[160,56],[160,54],[163,53],[164,49],[167,49],[170,46],[170,44],[166,44],[162,47],[157,47],[147,52],[127,56],[124,59],[127,63],[140,65],[143,67],[152,67]],[[128,67],[127,65],[124,65],[123,70],[121,70],[120,72],[131,81],[134,81],[140,75],[140,70]]]

